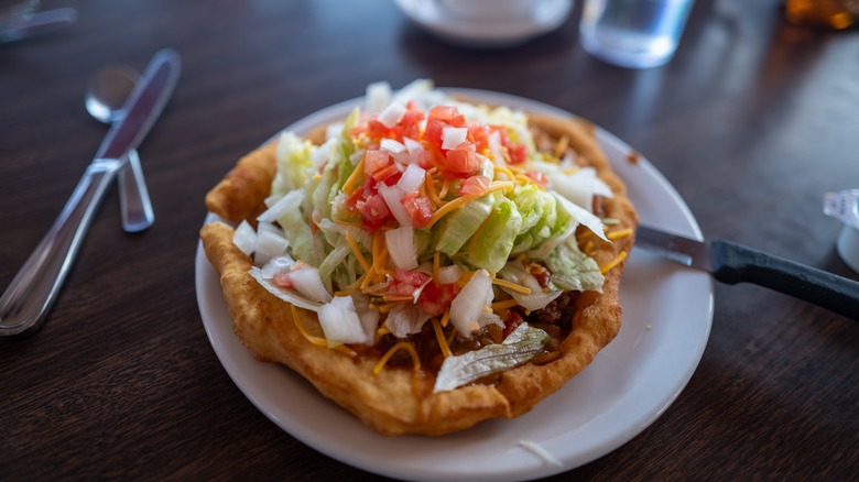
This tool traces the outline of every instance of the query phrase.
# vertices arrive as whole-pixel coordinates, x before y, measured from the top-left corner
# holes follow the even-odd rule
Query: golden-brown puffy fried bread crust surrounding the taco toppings
[[[597,168],[616,193],[604,207],[607,217],[619,220],[613,229],[634,230],[634,209],[626,187],[596,143],[594,127],[578,119],[531,119],[534,127],[552,138],[568,138],[569,145]],[[230,222],[255,218],[269,194],[274,164],[272,145],[244,156],[206,196],[209,210]],[[525,364],[503,372],[492,385],[432,393],[434,374],[385,368],[373,375],[376,360],[351,358],[309,342],[296,328],[290,305],[269,294],[248,274],[251,260],[235,247],[232,233],[229,226],[214,222],[202,229],[200,238],[208,260],[220,274],[233,331],[241,342],[259,360],[290,366],[322,394],[384,435],[438,436],[485,419],[522,415],[587,366],[620,329],[618,288],[623,262],[606,273],[602,293],[587,292],[576,298],[573,329],[559,344],[558,358],[543,365]],[[592,256],[604,265],[620,252],[629,252],[632,243],[632,235],[612,244],[597,242]],[[297,313],[297,321],[320,336],[315,314],[302,309]]]

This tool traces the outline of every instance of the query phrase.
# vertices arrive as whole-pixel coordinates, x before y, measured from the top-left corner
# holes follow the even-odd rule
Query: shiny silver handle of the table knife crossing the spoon
[[[0,336],[32,335],[56,299],[96,207],[123,161],[87,167],[66,206],[0,297]]]

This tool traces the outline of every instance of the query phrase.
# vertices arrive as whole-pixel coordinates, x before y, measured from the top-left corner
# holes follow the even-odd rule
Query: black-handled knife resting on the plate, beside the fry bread
[[[718,282],[757,284],[859,320],[859,282],[731,241],[698,241],[648,226],[639,226],[634,245]]]

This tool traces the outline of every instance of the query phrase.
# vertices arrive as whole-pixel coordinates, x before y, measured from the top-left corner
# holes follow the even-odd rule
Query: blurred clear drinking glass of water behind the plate
[[[695,0],[585,0],[581,46],[622,67],[648,68],[674,55]]]

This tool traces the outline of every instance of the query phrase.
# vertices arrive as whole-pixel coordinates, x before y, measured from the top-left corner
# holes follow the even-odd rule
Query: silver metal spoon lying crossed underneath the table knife
[[[139,78],[140,74],[124,65],[105,67],[93,78],[87,89],[87,112],[108,124],[124,118],[122,106]],[[152,226],[155,215],[137,150],[129,151],[128,161],[128,165],[119,172],[119,207],[122,229],[138,232]]]

